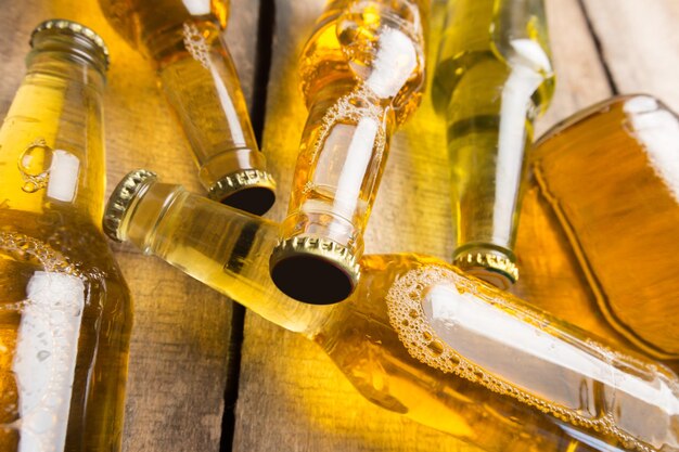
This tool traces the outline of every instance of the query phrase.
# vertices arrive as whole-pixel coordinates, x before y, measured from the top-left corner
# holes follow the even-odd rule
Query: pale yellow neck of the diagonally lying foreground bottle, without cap
[[[311,334],[326,318],[330,307],[295,301],[271,282],[268,261],[278,242],[277,223],[190,194],[180,185],[143,183],[121,218],[120,240],[284,328]]]

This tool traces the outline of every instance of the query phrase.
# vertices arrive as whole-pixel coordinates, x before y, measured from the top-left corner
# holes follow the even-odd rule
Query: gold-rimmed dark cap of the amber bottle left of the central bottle
[[[259,169],[232,172],[207,191],[210,199],[254,215],[265,215],[276,202],[273,177]]]

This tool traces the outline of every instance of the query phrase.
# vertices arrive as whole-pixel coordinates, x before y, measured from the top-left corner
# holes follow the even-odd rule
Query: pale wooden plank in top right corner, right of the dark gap
[[[582,2],[618,91],[653,94],[679,112],[679,2]]]

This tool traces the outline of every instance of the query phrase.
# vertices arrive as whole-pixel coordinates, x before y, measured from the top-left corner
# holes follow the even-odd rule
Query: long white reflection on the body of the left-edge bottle
[[[84,307],[76,276],[38,271],[28,282],[13,362],[18,452],[64,450]]]

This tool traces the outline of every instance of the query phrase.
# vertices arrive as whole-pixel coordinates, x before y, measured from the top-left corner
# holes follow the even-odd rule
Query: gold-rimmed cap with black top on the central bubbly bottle
[[[296,236],[278,244],[269,261],[271,279],[296,300],[331,305],[347,298],[360,268],[349,248],[329,238]]]

